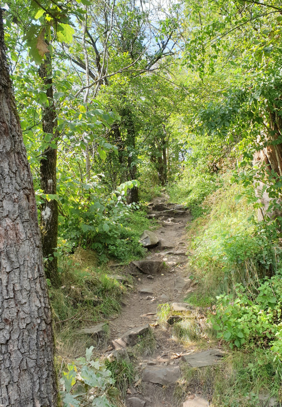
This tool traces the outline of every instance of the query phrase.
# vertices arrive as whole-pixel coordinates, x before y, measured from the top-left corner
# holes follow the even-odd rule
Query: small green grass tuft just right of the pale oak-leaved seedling
[[[131,362],[124,359],[117,361],[116,359],[105,361],[106,368],[111,372],[111,378],[114,379],[115,387],[120,391],[123,398],[126,396],[128,387],[135,380],[135,369]]]

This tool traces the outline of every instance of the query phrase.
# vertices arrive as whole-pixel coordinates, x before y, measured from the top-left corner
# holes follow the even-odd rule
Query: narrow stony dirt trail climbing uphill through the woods
[[[129,272],[135,274],[136,288],[128,295],[127,303],[124,304],[121,315],[110,323],[111,340],[116,339],[117,341],[116,344],[111,343],[113,348],[127,347],[126,345],[134,339],[134,335],[133,339],[131,339],[132,335],[125,338],[127,344],[122,342],[124,340],[122,335],[128,333],[129,330],[143,327],[148,323],[151,324],[151,330],[157,340],[156,351],[151,355],[145,352],[139,358],[140,360],[136,362],[139,372],[136,381],[140,378],[139,383],[142,383],[136,389],[131,387],[128,392],[127,400],[125,400],[128,407],[172,406],[174,384],[180,376],[180,358],[175,358],[175,354],[188,352],[187,348],[173,341],[168,330],[162,329],[161,326],[156,324],[156,313],[159,304],[181,303],[188,291],[192,290],[190,287],[191,280],[187,276],[186,263],[188,259],[185,255],[187,251],[185,227],[190,222],[190,214],[175,205],[170,206],[169,210],[162,208],[163,206],[169,206],[166,201],[166,198],[155,199],[151,213],[155,213],[159,217],[160,228],[155,231],[155,234],[160,242],[162,242],[161,239],[165,239],[172,243],[174,247],[173,249],[161,249],[160,247],[149,249],[145,260],[150,262],[155,262],[155,260],[165,261],[167,266],[159,273],[153,274],[153,278],[150,278],[148,274],[143,274],[138,267],[131,264],[133,267]],[[156,208],[160,210],[156,211]],[[172,211],[174,211],[173,214]],[[174,252],[178,253],[174,255]],[[176,264],[173,265],[175,262]],[[135,264],[138,265],[138,262]],[[122,272],[124,274],[125,270],[115,270],[115,274],[122,274]],[[142,293],[142,291],[148,292]],[[156,326],[154,326],[155,324]],[[121,339],[118,339],[120,337]],[[133,341],[129,345],[132,346],[135,343],[136,341]],[[130,346],[127,347],[127,350],[130,350]],[[110,351],[111,348],[105,354],[109,355]],[[168,384],[171,385],[163,387],[163,385]],[[186,403],[192,404],[184,403],[184,406],[192,407],[195,401],[188,401]],[[200,404],[202,401],[197,401],[195,406],[207,405],[205,402]]]

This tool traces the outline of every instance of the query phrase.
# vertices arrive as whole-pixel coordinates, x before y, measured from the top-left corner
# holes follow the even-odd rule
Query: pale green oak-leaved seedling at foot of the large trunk
[[[105,363],[92,360],[94,346],[86,349],[85,357],[68,364],[68,371],[62,373],[60,383],[63,387],[61,398],[64,407],[87,406],[113,407],[109,396],[118,394],[110,387],[115,383]]]

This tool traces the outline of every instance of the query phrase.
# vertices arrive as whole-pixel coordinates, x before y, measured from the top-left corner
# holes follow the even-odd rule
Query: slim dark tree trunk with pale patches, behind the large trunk
[[[57,116],[53,99],[52,63],[48,55],[39,68],[39,76],[44,81],[44,88],[46,89],[46,95],[49,101],[49,106],[42,106],[42,130],[44,133],[52,135],[53,140],[58,137]],[[57,193],[56,166],[57,149],[48,147],[43,152],[43,158],[40,161],[40,187],[44,194]],[[46,261],[46,277],[49,278],[55,286],[58,286],[60,283],[57,257],[54,256],[54,249],[57,247],[58,241],[58,215],[58,202],[55,199],[50,201],[45,200],[44,204],[41,205],[40,219],[42,250],[43,256],[48,259]]]

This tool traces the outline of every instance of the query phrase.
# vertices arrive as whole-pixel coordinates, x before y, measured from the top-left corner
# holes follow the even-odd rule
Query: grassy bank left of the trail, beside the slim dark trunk
[[[61,357],[77,357],[86,347],[102,344],[99,339],[78,333],[79,330],[118,315],[120,302],[128,289],[118,280],[109,278],[112,272],[106,265],[98,266],[96,254],[91,250],[77,249],[61,261],[60,267],[62,286],[49,289],[57,352]],[[107,332],[103,342],[105,340]]]

